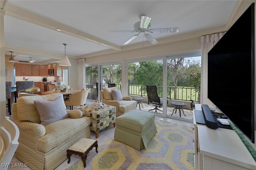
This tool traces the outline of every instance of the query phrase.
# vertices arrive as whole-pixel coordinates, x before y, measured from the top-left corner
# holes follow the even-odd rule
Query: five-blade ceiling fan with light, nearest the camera
[[[134,24],[133,31],[109,31],[109,32],[132,32],[132,33],[137,32],[138,34],[132,36],[123,44],[123,45],[127,45],[130,42],[132,42],[134,39],[136,39],[140,33],[144,33],[144,37],[148,39],[150,43],[156,44],[158,42],[149,33],[177,33],[180,31],[179,27],[150,29],[151,28],[150,20],[151,18],[148,16],[141,16],[140,21]]]

